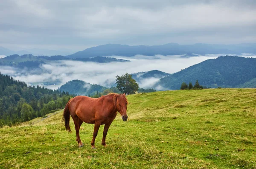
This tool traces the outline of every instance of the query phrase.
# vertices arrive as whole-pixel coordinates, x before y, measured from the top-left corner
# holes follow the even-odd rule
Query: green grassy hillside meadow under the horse
[[[256,168],[256,90],[175,90],[128,96],[128,122],[118,115],[101,146],[90,149],[93,125],[82,124],[78,148],[73,121],[62,111],[0,129],[1,168],[225,169]]]

